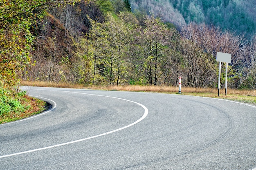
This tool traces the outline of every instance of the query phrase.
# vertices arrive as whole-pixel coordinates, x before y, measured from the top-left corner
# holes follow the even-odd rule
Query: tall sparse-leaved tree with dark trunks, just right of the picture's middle
[[[168,60],[166,53],[170,50],[173,31],[154,15],[147,17],[145,26],[136,31],[135,44],[139,52],[133,55],[131,62],[150,85],[156,86],[159,77],[164,75],[161,65]]]

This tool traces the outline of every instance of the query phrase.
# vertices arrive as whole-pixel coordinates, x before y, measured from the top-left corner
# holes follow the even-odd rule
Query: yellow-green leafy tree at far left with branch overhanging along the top
[[[12,89],[30,62],[35,20],[44,9],[74,3],[75,0],[3,0],[0,2],[0,73],[2,87]]]

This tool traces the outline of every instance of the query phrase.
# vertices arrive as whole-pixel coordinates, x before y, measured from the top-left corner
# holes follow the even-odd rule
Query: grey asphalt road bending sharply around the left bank
[[[22,87],[52,104],[0,125],[1,170],[252,170],[256,107],[220,99]]]

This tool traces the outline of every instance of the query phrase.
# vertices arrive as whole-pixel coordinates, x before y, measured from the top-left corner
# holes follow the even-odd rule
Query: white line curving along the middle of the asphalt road
[[[68,92],[68,91],[62,91],[62,92]],[[78,93],[78,92],[68,92],[68,93]],[[79,93],[79,94],[85,94],[85,95],[94,95],[94,94],[87,94],[87,93]],[[110,96],[104,96],[104,95],[95,95],[95,96],[101,96],[101,97],[110,97]],[[114,99],[121,99],[121,98],[117,98],[117,97],[110,97],[110,98],[114,98]],[[106,133],[102,133],[100,135],[96,135],[96,136],[92,136],[92,137],[88,137],[88,138],[84,138],[84,139],[79,139],[79,140],[76,140],[76,141],[70,141],[70,142],[66,142],[66,143],[63,143],[63,144],[57,144],[57,145],[53,145],[53,146],[47,146],[47,147],[44,147],[44,148],[38,148],[38,149],[33,149],[33,150],[28,150],[28,151],[24,151],[24,152],[18,152],[18,153],[14,153],[14,154],[10,154],[10,155],[3,155],[3,156],[0,156],[0,158],[4,158],[4,157],[11,157],[11,156],[15,156],[15,155],[20,155],[20,154],[25,154],[25,153],[29,153],[29,152],[35,152],[35,151],[38,151],[38,150],[45,150],[45,149],[49,149],[49,148],[54,148],[54,147],[58,147],[58,146],[63,146],[63,145],[68,145],[68,144],[73,144],[73,143],[76,143],[76,142],[80,142],[80,141],[85,141],[85,140],[88,140],[88,139],[92,139],[92,138],[96,138],[96,137],[101,137],[103,135],[108,135],[110,133],[114,133],[114,132],[117,132],[119,130],[123,130],[125,128],[128,128],[130,126],[133,126],[137,123],[139,123],[141,120],[143,120],[147,115],[148,115],[148,108],[146,108],[146,106],[140,104],[140,103],[137,103],[137,102],[133,102],[131,100],[127,100],[127,99],[121,99],[121,100],[125,100],[125,101],[128,101],[128,102],[132,102],[132,103],[135,103],[135,104],[138,104],[139,106],[141,106],[142,108],[144,108],[144,115],[138,119],[137,121],[133,122],[132,124],[129,124],[127,126],[124,126],[122,128],[119,128],[119,129],[116,129],[116,130],[112,130],[110,132],[106,132]],[[54,102],[55,103],[55,102]]]

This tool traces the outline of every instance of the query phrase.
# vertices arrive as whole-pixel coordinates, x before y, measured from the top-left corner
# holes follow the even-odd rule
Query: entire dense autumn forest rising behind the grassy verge
[[[139,2],[141,7],[143,3],[162,2],[173,15],[135,10],[133,7]],[[218,24],[204,23],[223,20],[226,26],[232,25],[222,13],[219,19],[207,18],[215,14],[206,13],[222,5],[231,11],[231,7],[238,8],[237,1],[213,2],[4,0],[0,2],[1,93],[6,93],[6,89],[13,91],[20,79],[85,85],[177,86],[178,77],[182,76],[183,86],[216,88],[217,51],[232,55],[229,88],[255,89],[256,37],[245,38]],[[192,10],[189,5],[198,11],[186,11]],[[243,7],[249,6],[243,3]],[[238,13],[232,12],[230,17],[239,18]],[[252,33],[254,20],[248,16],[252,20],[245,17],[244,22],[252,23],[252,27],[239,25]],[[166,17],[171,19],[167,21]],[[186,24],[189,20],[195,22]]]

